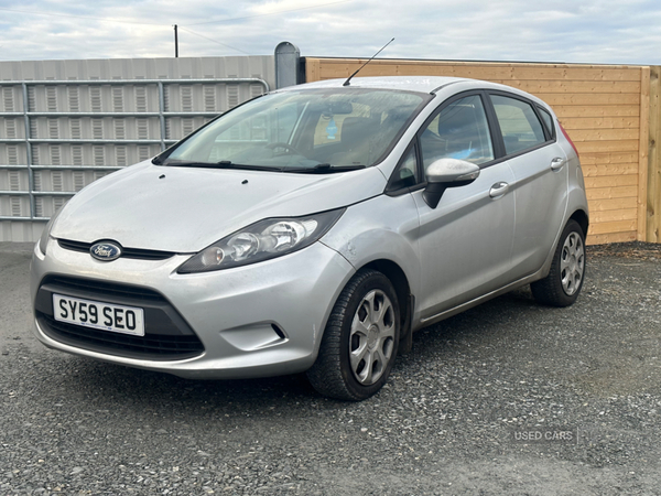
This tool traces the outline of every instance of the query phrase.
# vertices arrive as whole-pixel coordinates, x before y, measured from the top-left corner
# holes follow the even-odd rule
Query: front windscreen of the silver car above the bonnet
[[[379,163],[431,95],[301,89],[256,98],[220,116],[156,163],[332,172]]]

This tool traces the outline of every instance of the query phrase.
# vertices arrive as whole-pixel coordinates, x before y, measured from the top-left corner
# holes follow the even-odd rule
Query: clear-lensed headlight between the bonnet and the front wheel
[[[228,269],[297,251],[324,236],[345,209],[260,220],[205,248],[182,265],[178,272]]]

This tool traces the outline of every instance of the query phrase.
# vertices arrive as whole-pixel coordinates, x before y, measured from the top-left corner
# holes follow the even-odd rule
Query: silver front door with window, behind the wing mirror
[[[481,169],[473,183],[448,187],[435,208],[421,190],[412,193],[420,217],[416,303],[423,321],[509,282],[514,200],[508,188],[514,176],[507,162],[495,160],[485,97],[460,94],[444,103],[418,136],[425,171],[442,158]]]

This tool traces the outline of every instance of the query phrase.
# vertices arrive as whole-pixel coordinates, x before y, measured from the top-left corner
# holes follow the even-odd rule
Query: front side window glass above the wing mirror
[[[481,98],[468,96],[445,107],[420,136],[424,169],[438,159],[475,164],[494,160],[494,147]]]

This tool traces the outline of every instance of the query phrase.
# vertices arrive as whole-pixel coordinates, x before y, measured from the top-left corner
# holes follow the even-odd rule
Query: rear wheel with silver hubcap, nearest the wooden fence
[[[576,220],[565,226],[549,276],[530,284],[534,299],[551,306],[568,306],[581,293],[585,279],[585,234]]]

